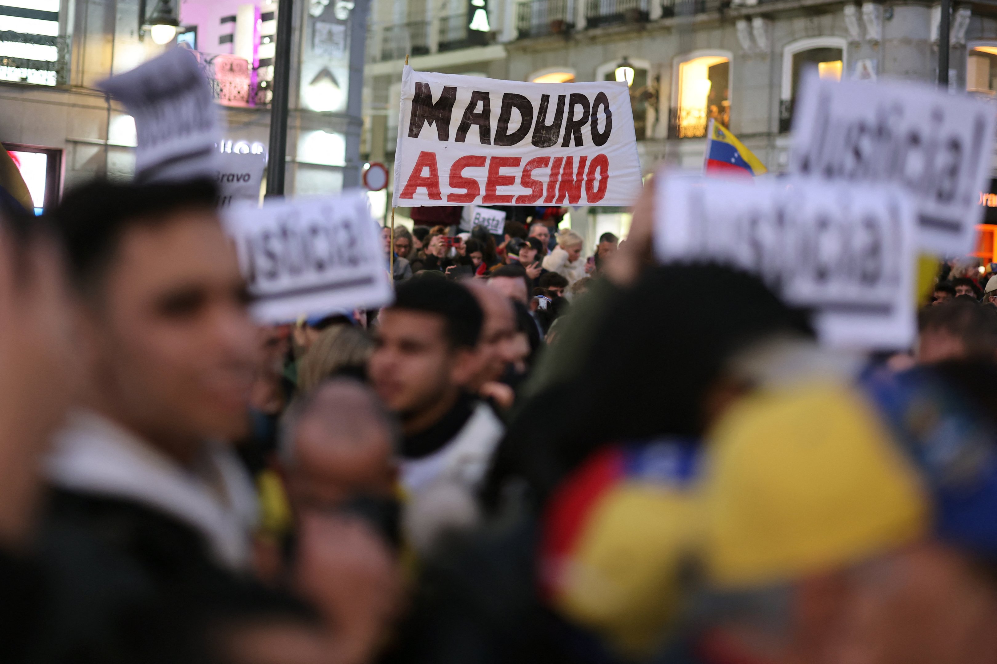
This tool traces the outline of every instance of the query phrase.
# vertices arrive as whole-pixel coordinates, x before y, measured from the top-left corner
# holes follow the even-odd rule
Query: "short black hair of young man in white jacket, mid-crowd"
[[[446,279],[411,279],[395,290],[389,309],[433,314],[444,319],[447,340],[454,347],[474,347],[482,333],[485,313],[471,291]]]

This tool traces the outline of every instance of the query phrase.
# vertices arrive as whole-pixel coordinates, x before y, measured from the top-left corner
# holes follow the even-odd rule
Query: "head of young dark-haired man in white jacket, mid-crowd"
[[[475,297],[445,279],[413,279],[382,310],[368,370],[407,432],[435,423],[471,386],[484,318]]]

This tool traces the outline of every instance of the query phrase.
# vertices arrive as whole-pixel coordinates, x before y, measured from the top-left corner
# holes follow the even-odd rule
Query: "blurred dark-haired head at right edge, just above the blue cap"
[[[997,356],[997,311],[956,298],[918,316],[917,361]]]

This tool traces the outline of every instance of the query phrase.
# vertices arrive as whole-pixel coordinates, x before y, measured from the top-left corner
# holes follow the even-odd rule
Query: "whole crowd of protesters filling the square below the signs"
[[[0,209],[2,661],[997,660],[997,276],[833,350],[656,265],[648,186],[587,254],[383,229],[392,304],[260,327],[216,196]]]

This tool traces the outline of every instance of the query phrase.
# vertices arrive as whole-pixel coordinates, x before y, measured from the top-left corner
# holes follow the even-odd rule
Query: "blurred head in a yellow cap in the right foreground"
[[[832,661],[849,570],[925,532],[913,469],[847,381],[756,390],[719,418],[708,450],[700,647]]]

